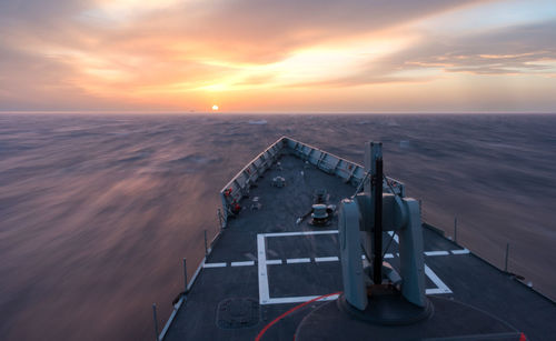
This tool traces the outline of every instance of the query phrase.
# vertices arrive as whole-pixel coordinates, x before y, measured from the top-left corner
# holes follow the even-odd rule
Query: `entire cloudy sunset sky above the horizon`
[[[554,113],[556,1],[0,1],[0,111],[214,106]]]

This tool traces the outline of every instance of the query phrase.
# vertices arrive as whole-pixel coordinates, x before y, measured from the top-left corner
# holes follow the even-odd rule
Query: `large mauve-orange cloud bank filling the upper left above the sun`
[[[476,1],[465,1],[474,3]],[[277,63],[298,50],[365,37],[461,1],[3,1],[2,96],[11,102],[183,92],[214,87],[238,71]],[[403,8],[404,10],[399,10]],[[129,10],[128,10],[129,9]],[[135,10],[133,10],[135,9]],[[245,73],[245,72],[244,72]],[[266,71],[235,84],[276,80]],[[16,86],[17,84],[17,86]],[[19,90],[14,90],[14,89]],[[125,94],[121,94],[125,93]],[[90,101],[89,101],[90,102]],[[89,104],[86,102],[83,104]],[[7,103],[6,101],[3,102]]]

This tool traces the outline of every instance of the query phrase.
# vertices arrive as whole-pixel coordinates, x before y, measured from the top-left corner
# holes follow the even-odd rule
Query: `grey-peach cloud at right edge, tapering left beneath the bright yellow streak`
[[[415,32],[419,38],[408,48],[373,59],[355,72],[290,86],[344,88],[393,82],[421,83],[441,78],[443,72],[554,78],[555,31],[556,22],[540,22],[461,36]]]

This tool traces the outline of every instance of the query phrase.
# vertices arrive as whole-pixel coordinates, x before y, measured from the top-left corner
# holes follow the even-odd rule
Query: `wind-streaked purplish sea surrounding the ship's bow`
[[[218,191],[281,136],[383,141],[425,221],[556,298],[556,116],[0,114],[0,339],[151,340]]]

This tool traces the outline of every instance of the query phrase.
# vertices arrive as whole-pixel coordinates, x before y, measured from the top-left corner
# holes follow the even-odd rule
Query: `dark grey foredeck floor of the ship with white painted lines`
[[[254,340],[265,325],[299,303],[282,303],[299,297],[322,295],[342,290],[339,261],[321,259],[338,257],[338,234],[266,235],[296,231],[337,230],[337,219],[326,228],[308,224],[308,219],[296,224],[312,203],[315,190],[326,189],[329,202],[354,194],[355,189],[340,179],[327,174],[300,159],[286,154],[280,160],[282,170],[272,167],[251,188],[249,199],[241,202],[246,209],[229,220],[228,228],[214,247],[207,264],[198,275],[187,300],[178,311],[165,340]],[[305,175],[301,175],[304,171]],[[271,187],[276,175],[286,178],[285,188]],[[251,211],[252,198],[259,197],[260,210]],[[262,238],[266,279],[258,264],[258,240]],[[385,235],[386,245],[389,235]],[[438,297],[455,299],[497,317],[524,332],[528,340],[555,340],[556,304],[510,275],[486,263],[473,253],[461,251],[457,244],[430,229],[424,229],[425,262],[430,269],[427,291],[443,292]],[[458,251],[460,250],[459,253]],[[447,251],[428,253],[430,251]],[[455,252],[454,252],[455,251]],[[397,243],[391,242],[386,261],[396,268]],[[447,254],[446,254],[447,253]],[[306,259],[309,259],[306,262]],[[272,264],[281,260],[281,264]],[[232,263],[247,262],[254,263]],[[270,264],[268,263],[269,261]],[[296,262],[296,263],[295,263]],[[262,270],[265,271],[265,270]],[[218,304],[230,298],[251,298],[259,302],[259,282],[268,282],[268,295],[275,301],[260,304],[255,325],[225,329],[217,325]],[[264,340],[292,340],[301,320],[316,308],[316,302],[280,320],[265,333]],[[455,317],[454,319],[457,319]],[[465,323],[465,321],[463,321]],[[365,335],[367,338],[369,335]]]

